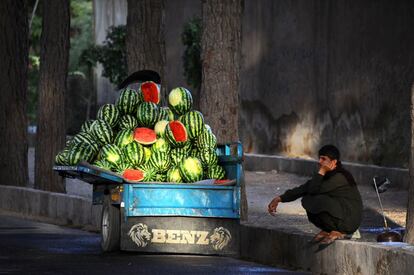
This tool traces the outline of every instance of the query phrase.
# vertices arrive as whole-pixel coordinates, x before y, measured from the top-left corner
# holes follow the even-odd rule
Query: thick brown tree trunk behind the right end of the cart
[[[242,0],[202,1],[200,110],[219,143],[239,140]],[[241,216],[247,219],[244,181]]]

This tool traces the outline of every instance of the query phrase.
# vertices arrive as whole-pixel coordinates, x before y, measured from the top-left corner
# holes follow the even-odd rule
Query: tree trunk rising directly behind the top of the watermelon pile
[[[164,0],[128,0],[126,48],[128,74],[156,71],[166,87],[164,12]]]

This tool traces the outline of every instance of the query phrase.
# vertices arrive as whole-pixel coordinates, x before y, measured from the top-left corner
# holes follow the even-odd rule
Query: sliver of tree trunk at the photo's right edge
[[[414,84],[411,87],[411,150],[410,150],[410,186],[408,190],[407,220],[404,241],[414,244]]]

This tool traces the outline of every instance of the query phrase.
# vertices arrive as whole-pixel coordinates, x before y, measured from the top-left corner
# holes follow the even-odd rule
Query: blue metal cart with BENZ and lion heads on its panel
[[[93,185],[93,204],[103,206],[103,251],[237,256],[242,145],[219,145],[217,152],[230,181],[129,183],[87,163],[54,170]]]

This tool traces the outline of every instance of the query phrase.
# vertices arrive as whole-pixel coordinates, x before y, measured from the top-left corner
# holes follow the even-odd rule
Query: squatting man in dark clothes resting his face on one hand
[[[268,211],[274,216],[279,203],[302,198],[308,220],[321,229],[312,242],[327,245],[358,229],[362,200],[353,176],[342,167],[338,148],[325,145],[318,153],[318,172],[306,183],[276,196]]]

